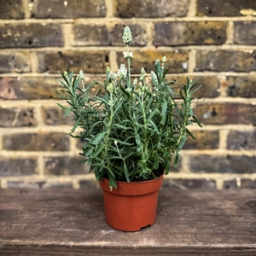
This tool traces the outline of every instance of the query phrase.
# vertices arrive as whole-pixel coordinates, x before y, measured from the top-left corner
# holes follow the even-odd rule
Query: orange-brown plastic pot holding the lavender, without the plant
[[[99,183],[103,189],[107,223],[123,231],[138,231],[153,225],[162,182],[163,175],[145,182],[117,182],[117,189],[111,191],[108,179],[103,178]]]

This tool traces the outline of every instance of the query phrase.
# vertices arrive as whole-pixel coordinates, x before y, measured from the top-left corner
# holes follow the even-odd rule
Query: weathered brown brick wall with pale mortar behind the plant
[[[55,90],[60,73],[103,79],[124,62],[123,27],[133,33],[132,73],[172,60],[170,77],[198,79],[203,129],[165,186],[256,188],[256,1],[0,0],[0,184],[2,188],[95,186],[79,165]]]

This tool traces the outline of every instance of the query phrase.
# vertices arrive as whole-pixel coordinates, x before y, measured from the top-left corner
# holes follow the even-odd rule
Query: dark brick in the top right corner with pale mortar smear
[[[198,16],[241,16],[242,9],[256,9],[254,0],[197,0],[196,15]]]

